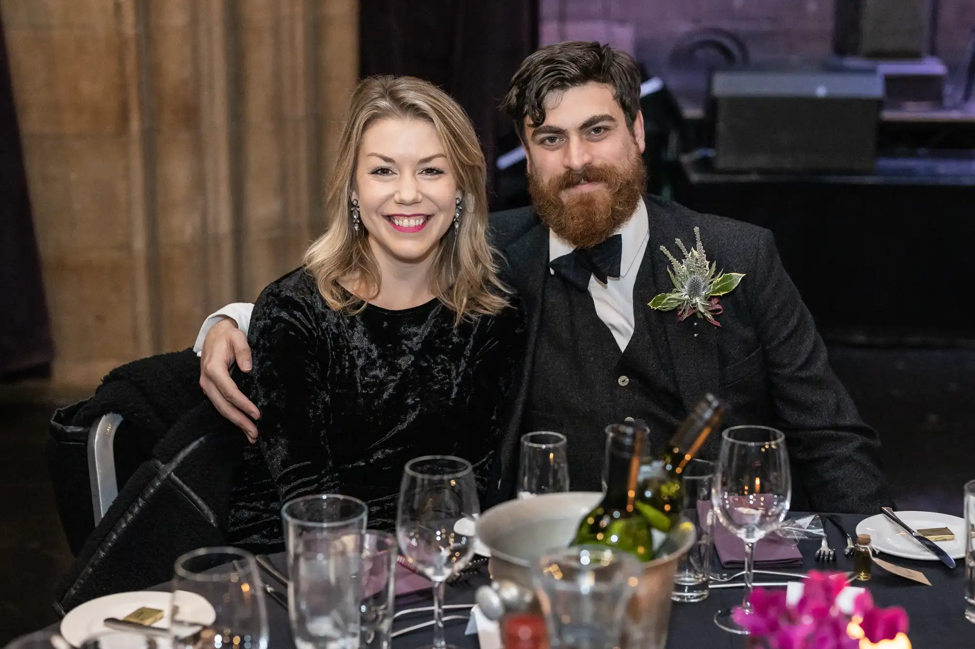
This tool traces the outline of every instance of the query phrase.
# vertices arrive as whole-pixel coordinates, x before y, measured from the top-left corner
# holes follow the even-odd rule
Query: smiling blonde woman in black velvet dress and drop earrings
[[[356,89],[328,229],[254,306],[259,455],[236,480],[232,542],[277,545],[281,503],[313,493],[361,498],[370,527],[390,528],[419,455],[463,457],[485,486],[524,350],[487,244],[485,173],[443,91],[410,77]]]

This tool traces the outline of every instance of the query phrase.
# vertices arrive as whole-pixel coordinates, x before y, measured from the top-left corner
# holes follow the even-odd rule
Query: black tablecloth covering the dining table
[[[851,534],[855,534],[856,523],[862,520],[862,515],[840,515],[843,526]],[[810,569],[830,569],[849,571],[852,562],[842,555],[846,547],[846,540],[832,523],[827,523],[827,534],[830,546],[837,550],[837,561],[831,564],[821,564],[814,560],[814,554],[819,548],[818,541],[801,541],[803,565],[795,572],[805,572]],[[273,557],[275,563],[283,566],[282,557]],[[874,578],[866,583],[855,586],[866,586],[874,596],[878,606],[903,606],[911,618],[910,637],[915,649],[961,649],[975,647],[975,625],[964,618],[964,567],[959,561],[954,570],[950,570],[939,561],[916,561],[883,555],[883,558],[898,565],[904,565],[922,571],[931,582],[931,586],[923,586],[908,581],[902,577],[891,575],[878,566],[874,566]],[[269,575],[264,575],[268,584],[279,588],[280,585]],[[757,575],[756,581],[782,581],[775,577]],[[447,603],[473,603],[474,592],[478,586],[487,584],[487,575],[477,577],[463,586],[448,587]],[[168,590],[168,585],[160,586],[160,590]],[[731,635],[715,626],[713,618],[720,608],[740,603],[741,589],[712,590],[711,595],[703,602],[696,604],[674,604],[671,613],[670,637],[668,649],[742,649],[744,641],[740,635]],[[397,600],[397,610],[413,606],[429,605],[430,593],[417,592],[406,595]],[[272,599],[267,600],[268,618],[271,628],[269,647],[272,649],[293,649],[292,632],[288,622],[288,611]],[[449,615],[450,612],[447,613]],[[430,615],[418,614],[408,619],[398,620],[394,630],[403,629],[432,619]],[[464,635],[467,623],[461,621],[448,622],[446,627],[447,641],[458,649],[479,649],[476,635]],[[428,647],[431,644],[433,631],[429,628],[412,631],[393,640],[394,649],[416,649]]]

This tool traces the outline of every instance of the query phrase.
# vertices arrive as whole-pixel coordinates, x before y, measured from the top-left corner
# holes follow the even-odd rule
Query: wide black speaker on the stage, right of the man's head
[[[872,172],[882,100],[876,72],[715,72],[708,106],[715,168]]]

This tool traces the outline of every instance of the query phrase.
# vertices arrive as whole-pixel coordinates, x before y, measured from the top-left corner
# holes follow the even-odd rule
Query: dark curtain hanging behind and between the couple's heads
[[[487,197],[497,205],[494,160],[518,145],[498,108],[508,82],[538,42],[537,0],[362,0],[363,76],[431,81],[470,115],[487,157]]]

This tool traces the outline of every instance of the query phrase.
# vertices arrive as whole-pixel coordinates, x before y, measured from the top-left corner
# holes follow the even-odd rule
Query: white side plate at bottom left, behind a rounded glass
[[[216,612],[210,602],[195,592],[185,594],[185,598],[180,595],[179,605],[179,608],[186,612],[184,619],[198,621],[205,625],[213,624],[216,619]],[[80,647],[92,635],[109,630],[102,624],[105,618],[121,620],[140,606],[165,611],[163,619],[152,626],[166,629],[170,626],[170,600],[172,597],[172,592],[136,591],[116,592],[86,601],[81,606],[71,609],[61,620],[61,635],[73,646]]]

